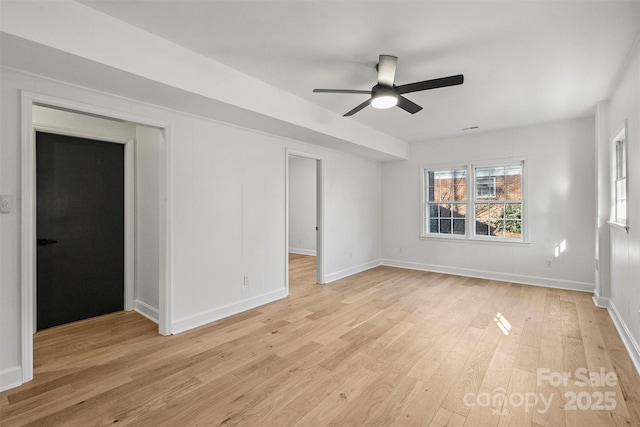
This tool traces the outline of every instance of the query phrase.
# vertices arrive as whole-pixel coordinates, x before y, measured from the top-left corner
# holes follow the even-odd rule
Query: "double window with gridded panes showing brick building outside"
[[[421,235],[523,241],[523,171],[522,160],[423,168]]]

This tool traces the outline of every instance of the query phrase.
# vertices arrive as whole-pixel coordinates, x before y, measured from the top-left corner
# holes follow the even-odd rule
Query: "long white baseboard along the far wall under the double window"
[[[422,264],[417,262],[383,259],[381,265],[389,267],[408,268],[411,270],[433,271],[434,273],[455,274],[456,276],[477,277],[479,279],[499,280],[524,285],[544,286],[547,288],[567,289],[571,291],[593,292],[593,283],[576,282],[572,280],[550,279],[548,277],[523,276],[519,274],[498,273],[494,271],[475,270],[471,268],[447,267],[442,265]]]

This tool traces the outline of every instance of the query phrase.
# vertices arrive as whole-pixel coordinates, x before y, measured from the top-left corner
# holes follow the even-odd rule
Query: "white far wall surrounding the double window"
[[[592,291],[594,122],[583,119],[413,144],[382,168],[383,263]],[[420,167],[524,157],[530,243],[419,238]],[[567,250],[555,257],[555,245]],[[552,260],[552,268],[545,261]]]

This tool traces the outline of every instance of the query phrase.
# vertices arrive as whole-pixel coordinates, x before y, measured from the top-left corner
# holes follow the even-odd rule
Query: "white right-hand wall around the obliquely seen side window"
[[[603,289],[598,301],[610,308],[610,313],[618,327],[627,350],[640,371],[640,50],[636,44],[628,69],[614,92],[609,104],[609,131],[607,138],[599,143],[604,146],[599,152],[610,153],[610,138],[627,120],[628,149],[628,233],[619,228],[609,229],[609,253],[611,276],[608,294]],[[600,182],[611,183],[610,158],[603,155],[599,171]],[[606,201],[602,201],[603,204]],[[610,203],[601,206],[601,211],[609,212]],[[607,225],[604,225],[607,226]],[[607,235],[605,235],[606,237]],[[606,247],[607,245],[604,245]]]

